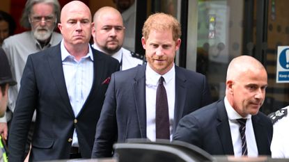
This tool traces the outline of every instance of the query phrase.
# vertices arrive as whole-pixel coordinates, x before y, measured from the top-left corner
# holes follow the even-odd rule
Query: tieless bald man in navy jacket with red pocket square
[[[91,48],[91,11],[83,2],[66,4],[60,18],[63,40],[27,58],[10,129],[9,161],[24,161],[34,110],[29,161],[91,157],[104,93],[119,63]]]

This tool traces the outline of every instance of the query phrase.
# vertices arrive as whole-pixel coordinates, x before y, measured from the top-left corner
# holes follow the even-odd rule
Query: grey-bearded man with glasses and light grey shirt
[[[61,41],[61,34],[54,32],[59,15],[60,5],[57,0],[26,1],[21,24],[24,28],[31,30],[6,38],[2,45],[7,54],[13,78],[17,83],[20,83],[26,59],[30,54],[47,49]],[[10,112],[14,111],[19,88],[20,84],[17,84],[17,86],[10,87],[8,90],[8,108]],[[0,119],[0,133],[5,140],[7,140],[8,125],[12,117],[10,112]],[[34,122],[35,115],[33,115],[33,122],[29,131],[26,154],[29,152]]]

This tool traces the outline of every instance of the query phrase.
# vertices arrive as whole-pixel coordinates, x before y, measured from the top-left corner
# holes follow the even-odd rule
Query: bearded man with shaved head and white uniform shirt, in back
[[[127,70],[143,64],[143,56],[123,48],[125,26],[118,10],[103,7],[93,17],[93,47],[120,63],[120,70]]]

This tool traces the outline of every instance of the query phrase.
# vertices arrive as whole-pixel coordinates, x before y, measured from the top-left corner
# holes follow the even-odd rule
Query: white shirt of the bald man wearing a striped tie
[[[224,102],[228,114],[232,143],[234,148],[234,155],[242,156],[242,140],[239,131],[240,124],[237,122],[237,119],[242,118],[242,116],[239,115],[234,110],[234,108],[229,104],[227,97],[225,97]],[[246,119],[247,122],[246,122],[245,135],[247,141],[248,156],[255,157],[258,156],[258,148],[256,144],[255,133],[253,130],[251,115],[247,115]]]

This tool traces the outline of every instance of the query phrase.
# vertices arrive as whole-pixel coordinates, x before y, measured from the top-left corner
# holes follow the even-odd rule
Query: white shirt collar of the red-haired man
[[[164,75],[158,74],[150,67],[150,65],[146,65],[146,83],[148,85],[157,86],[160,76],[164,77],[165,84],[169,83],[173,79],[173,76],[175,76],[175,64],[173,64],[171,70],[169,70],[169,72],[166,72],[166,74]]]

